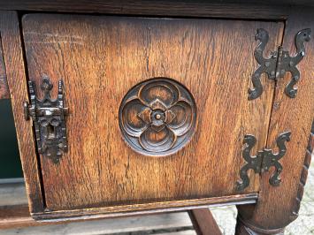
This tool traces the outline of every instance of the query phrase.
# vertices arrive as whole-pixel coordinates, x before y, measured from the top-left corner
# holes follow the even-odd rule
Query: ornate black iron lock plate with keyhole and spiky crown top
[[[68,109],[64,108],[63,83],[58,82],[57,99],[50,98],[53,85],[47,76],[42,79],[42,100],[35,94],[33,81],[28,81],[31,104],[24,102],[24,115],[28,120],[32,117],[38,153],[47,156],[53,163],[58,163],[63,153],[67,151],[65,130],[65,115]]]

